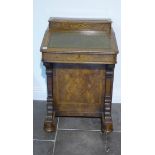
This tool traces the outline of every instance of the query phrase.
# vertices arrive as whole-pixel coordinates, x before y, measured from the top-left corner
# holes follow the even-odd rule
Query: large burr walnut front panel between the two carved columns
[[[54,64],[54,108],[59,115],[100,116],[104,106],[104,65]]]

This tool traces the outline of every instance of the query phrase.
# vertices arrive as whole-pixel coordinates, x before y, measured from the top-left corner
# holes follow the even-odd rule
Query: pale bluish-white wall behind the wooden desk
[[[34,0],[33,99],[46,100],[45,68],[40,45],[49,17],[110,18],[121,52],[121,0]],[[121,54],[115,67],[113,103],[121,103]]]

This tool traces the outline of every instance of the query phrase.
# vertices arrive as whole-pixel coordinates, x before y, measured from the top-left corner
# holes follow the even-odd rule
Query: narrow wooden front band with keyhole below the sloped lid
[[[115,64],[116,55],[113,54],[57,54],[50,52],[42,53],[44,62],[59,62],[59,63],[94,63],[94,64]]]

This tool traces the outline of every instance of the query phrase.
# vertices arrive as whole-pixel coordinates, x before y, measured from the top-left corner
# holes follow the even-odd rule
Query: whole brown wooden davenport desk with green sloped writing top
[[[55,116],[100,117],[112,132],[111,102],[118,48],[107,19],[50,18],[42,45],[47,75],[44,129],[56,130]]]

